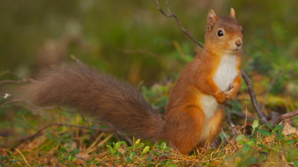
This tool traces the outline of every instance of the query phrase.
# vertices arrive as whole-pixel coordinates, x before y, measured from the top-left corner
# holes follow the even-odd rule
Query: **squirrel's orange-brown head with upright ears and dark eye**
[[[217,54],[236,54],[242,47],[242,27],[238,24],[233,8],[230,16],[218,17],[213,10],[207,16],[205,48]]]

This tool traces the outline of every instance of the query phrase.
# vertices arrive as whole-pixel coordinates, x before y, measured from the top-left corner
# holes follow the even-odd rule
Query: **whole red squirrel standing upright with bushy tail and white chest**
[[[151,141],[166,140],[183,154],[204,147],[219,133],[222,104],[240,88],[242,27],[235,11],[207,16],[205,48],[186,65],[175,84],[165,114],[156,113],[141,93],[82,63],[48,71],[24,88],[37,106],[68,106]]]

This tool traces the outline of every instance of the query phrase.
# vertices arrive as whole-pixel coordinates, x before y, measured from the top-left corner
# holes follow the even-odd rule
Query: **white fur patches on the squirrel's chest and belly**
[[[237,76],[236,58],[235,55],[222,56],[221,62],[213,77],[213,81],[222,91],[227,91]],[[204,95],[200,100],[200,104],[208,121],[217,110],[218,103],[213,96]]]

